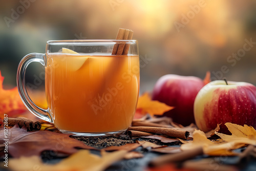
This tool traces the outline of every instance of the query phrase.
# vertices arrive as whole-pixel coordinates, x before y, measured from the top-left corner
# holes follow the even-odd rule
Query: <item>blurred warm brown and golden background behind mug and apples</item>
[[[141,93],[162,75],[204,78],[206,71],[212,80],[256,85],[255,1],[1,0],[0,16],[5,88],[16,86],[20,59],[45,53],[47,40],[115,39],[118,28],[132,29],[139,41]],[[35,90],[44,89],[42,71],[29,67]]]

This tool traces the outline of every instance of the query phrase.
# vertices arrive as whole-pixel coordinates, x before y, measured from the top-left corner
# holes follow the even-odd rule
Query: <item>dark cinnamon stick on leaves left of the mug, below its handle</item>
[[[14,126],[15,124],[18,124],[19,128],[25,126],[27,131],[39,131],[41,129],[41,123],[38,121],[33,121],[25,117],[8,118],[9,126]]]

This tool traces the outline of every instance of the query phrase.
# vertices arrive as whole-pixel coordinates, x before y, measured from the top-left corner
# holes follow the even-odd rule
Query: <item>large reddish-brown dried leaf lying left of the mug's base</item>
[[[0,135],[4,135],[3,126],[0,127]],[[50,131],[27,132],[25,127],[19,129],[18,125],[15,125],[8,129],[8,153],[16,158],[21,156],[40,156],[41,152],[46,150],[69,155],[78,151],[75,147],[95,149],[69,136],[69,134]],[[0,148],[4,147],[3,143],[4,140],[1,139]]]

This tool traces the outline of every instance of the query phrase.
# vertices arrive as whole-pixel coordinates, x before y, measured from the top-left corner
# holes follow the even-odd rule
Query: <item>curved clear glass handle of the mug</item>
[[[39,108],[28,95],[25,82],[25,73],[28,65],[31,62],[39,62],[42,66],[45,66],[46,56],[42,53],[30,53],[20,60],[17,70],[17,88],[19,96],[32,114],[42,120],[53,123],[49,110]]]

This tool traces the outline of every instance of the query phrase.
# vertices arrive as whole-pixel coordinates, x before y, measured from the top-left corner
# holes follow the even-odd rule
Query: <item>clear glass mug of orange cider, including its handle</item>
[[[127,55],[112,55],[115,44],[130,45]],[[48,109],[28,96],[29,63],[45,66]],[[136,40],[51,40],[46,54],[31,53],[19,63],[17,88],[35,116],[77,136],[119,134],[132,123],[139,95]]]

